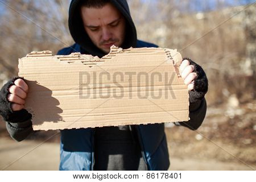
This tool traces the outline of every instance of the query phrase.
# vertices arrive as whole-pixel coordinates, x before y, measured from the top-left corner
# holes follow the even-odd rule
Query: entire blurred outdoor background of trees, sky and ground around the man
[[[203,125],[197,131],[166,125],[170,169],[255,169],[255,1],[128,2],[139,39],[177,49],[183,57],[200,64],[208,76],[208,110]],[[73,44],[68,30],[69,3],[70,0],[0,1],[1,86],[18,75],[18,59],[27,53],[56,53]],[[57,170],[60,135],[40,144],[55,133],[36,132],[17,143],[10,139],[5,122],[1,121],[0,168]]]

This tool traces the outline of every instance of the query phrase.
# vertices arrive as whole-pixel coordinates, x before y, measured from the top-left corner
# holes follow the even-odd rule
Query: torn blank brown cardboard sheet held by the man
[[[34,130],[188,121],[181,60],[163,48],[113,46],[102,59],[31,52],[19,59],[29,86],[25,109]]]

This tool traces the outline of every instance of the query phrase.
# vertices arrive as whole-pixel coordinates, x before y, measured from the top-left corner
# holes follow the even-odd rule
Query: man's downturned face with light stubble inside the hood
[[[121,47],[125,39],[125,18],[111,4],[100,9],[81,7],[82,21],[95,46],[109,53],[111,46]]]

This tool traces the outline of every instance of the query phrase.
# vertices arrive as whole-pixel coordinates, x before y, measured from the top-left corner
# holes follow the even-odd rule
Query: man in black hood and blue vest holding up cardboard
[[[137,40],[125,0],[73,0],[69,30],[76,43],[59,55],[81,52],[102,57],[112,45],[157,47]],[[206,113],[207,77],[189,59],[181,63],[180,73],[190,90],[190,120],[177,124],[196,130]],[[22,78],[13,78],[1,89],[0,112],[17,141],[32,132],[31,115],[23,109],[27,92]],[[167,170],[170,165],[164,124],[62,130],[60,146],[60,170]]]

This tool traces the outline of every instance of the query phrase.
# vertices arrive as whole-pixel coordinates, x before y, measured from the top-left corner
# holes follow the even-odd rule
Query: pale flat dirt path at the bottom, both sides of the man
[[[1,138],[0,169],[58,170],[59,143],[43,143],[42,146],[25,155],[28,151],[38,146],[38,144],[40,144],[40,142],[25,140],[18,143],[9,138]],[[252,170],[253,168],[256,168],[255,164],[250,164],[249,167],[241,162],[227,162],[218,159],[200,159],[189,155],[180,157],[172,155],[172,152],[170,161],[170,170]]]

